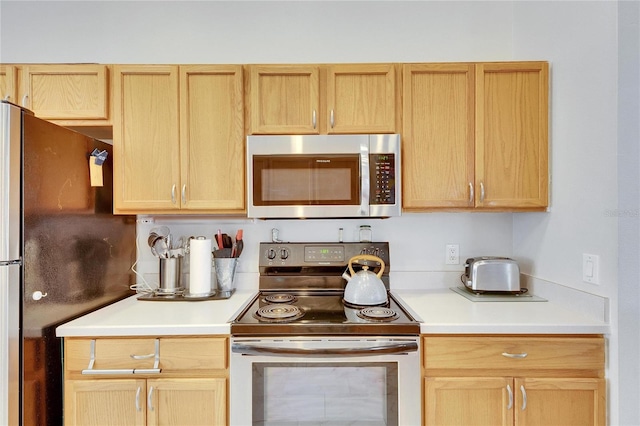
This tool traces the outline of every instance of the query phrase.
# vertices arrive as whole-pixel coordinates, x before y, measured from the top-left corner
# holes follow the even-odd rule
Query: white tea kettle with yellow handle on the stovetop
[[[355,273],[352,263],[355,260],[372,260],[380,263],[380,271],[377,274],[369,271],[368,266],[363,266],[362,270]],[[349,276],[346,271],[342,277],[347,280],[347,287],[344,289],[344,302],[356,306],[376,306],[388,302],[387,288],[380,279],[384,272],[384,261],[377,256],[360,254],[349,259]]]

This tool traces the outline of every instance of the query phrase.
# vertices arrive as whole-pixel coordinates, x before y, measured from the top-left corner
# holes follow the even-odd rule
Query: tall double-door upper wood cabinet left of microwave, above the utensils
[[[243,213],[242,67],[114,71],[114,211]]]

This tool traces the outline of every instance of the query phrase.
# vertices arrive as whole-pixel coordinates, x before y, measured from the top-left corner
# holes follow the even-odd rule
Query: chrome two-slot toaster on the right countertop
[[[520,293],[520,268],[508,257],[482,256],[467,259],[462,282],[475,292]]]

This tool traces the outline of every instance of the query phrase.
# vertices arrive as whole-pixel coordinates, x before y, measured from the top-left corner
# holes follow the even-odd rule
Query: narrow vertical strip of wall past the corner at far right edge
[[[640,3],[621,3],[618,17],[619,411],[640,424]]]

